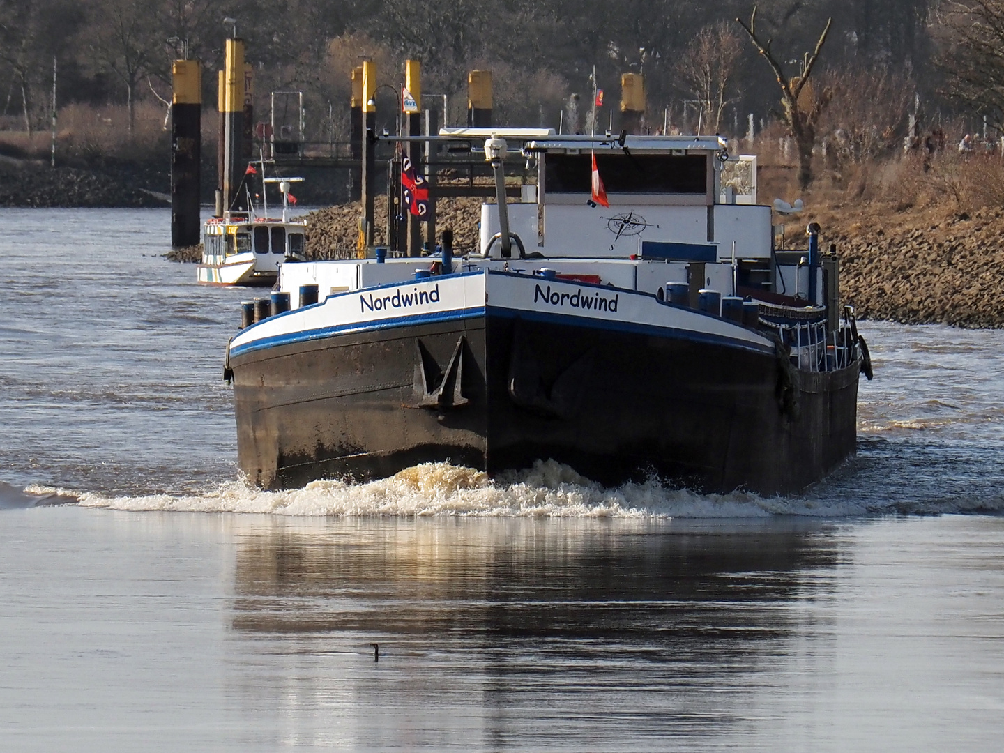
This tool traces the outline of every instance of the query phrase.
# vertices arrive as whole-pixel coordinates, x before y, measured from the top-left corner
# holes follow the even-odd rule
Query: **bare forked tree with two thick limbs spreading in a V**
[[[826,26],[819,35],[819,40],[816,42],[812,54],[809,55],[806,53],[802,57],[801,73],[791,78],[784,74],[777,58],[770,51],[770,45],[773,40],[768,39],[764,42],[757,37],[755,25],[756,6],[753,6],[749,26],[743,23],[740,18],[737,18],[736,21],[749,34],[757,51],[763,55],[777,77],[777,83],[781,87],[781,105],[783,107],[782,115],[784,122],[787,124],[788,133],[795,140],[795,146],[798,149],[798,185],[804,191],[812,182],[812,148],[815,146],[816,141],[816,123],[832,95],[832,92],[826,87],[823,87],[816,94],[812,91],[811,87],[807,88],[806,84],[809,81],[809,76],[812,75],[812,68],[815,66],[816,60],[819,59],[819,51],[826,42],[826,35],[829,34],[829,27],[832,25],[833,19],[828,18],[826,20]]]

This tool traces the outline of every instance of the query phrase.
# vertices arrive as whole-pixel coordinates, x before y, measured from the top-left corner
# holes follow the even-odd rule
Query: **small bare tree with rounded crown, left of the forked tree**
[[[680,78],[700,105],[707,133],[719,132],[725,106],[733,100],[729,94],[741,54],[739,35],[720,21],[701,29],[680,60]]]

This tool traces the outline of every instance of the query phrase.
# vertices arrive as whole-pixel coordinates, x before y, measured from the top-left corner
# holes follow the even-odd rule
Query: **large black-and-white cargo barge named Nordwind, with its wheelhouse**
[[[818,226],[776,249],[719,137],[506,136],[479,247],[282,265],[226,352],[250,483],[553,459],[777,494],[853,454],[870,363]],[[517,150],[537,180],[507,203]]]

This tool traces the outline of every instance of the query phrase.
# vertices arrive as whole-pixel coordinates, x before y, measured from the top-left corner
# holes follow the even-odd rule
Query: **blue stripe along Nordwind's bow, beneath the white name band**
[[[415,314],[413,316],[397,316],[393,318],[381,319],[379,321],[354,322],[351,324],[341,324],[339,326],[320,327],[301,332],[289,332],[277,334],[272,337],[263,337],[259,340],[239,345],[230,351],[230,357],[243,355],[280,345],[289,345],[294,342],[309,342],[311,340],[334,337],[339,334],[351,334],[366,331],[380,331],[384,329],[394,329],[396,327],[416,326],[419,324],[435,324],[444,321],[458,321],[461,319],[473,319],[484,316],[485,308],[461,308],[454,311],[441,311],[431,314]],[[738,347],[743,350],[773,355],[774,349],[770,345],[760,345],[755,342],[745,342],[710,332],[698,332],[693,329],[679,329],[676,327],[664,327],[653,324],[640,324],[628,321],[610,321],[606,319],[592,319],[582,316],[570,316],[565,314],[546,313],[539,311],[527,311],[525,309],[500,308],[489,306],[487,313],[490,316],[502,316],[506,318],[527,319],[529,321],[541,321],[549,324],[561,324],[565,326],[578,326],[593,329],[603,329],[607,331],[632,332],[634,334],[647,334],[657,337],[669,337],[672,339],[685,339],[694,342],[705,342],[714,345],[724,345],[727,347]]]

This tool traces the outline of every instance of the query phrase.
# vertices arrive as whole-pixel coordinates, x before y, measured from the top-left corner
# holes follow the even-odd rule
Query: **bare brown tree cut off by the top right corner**
[[[948,5],[946,44],[940,63],[948,93],[1004,132],[1004,0],[964,0]]]

